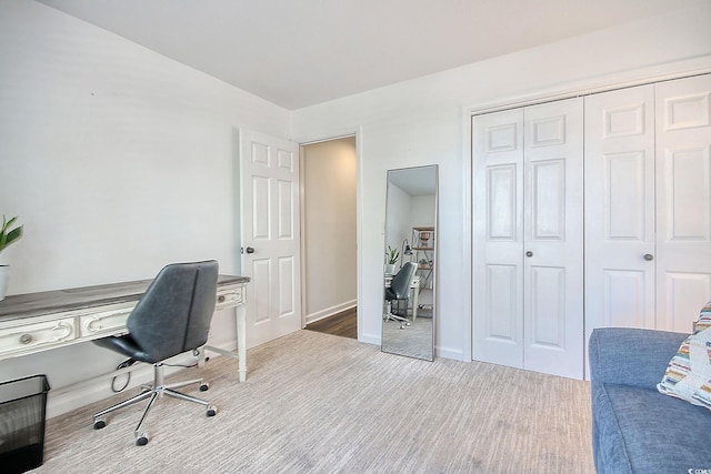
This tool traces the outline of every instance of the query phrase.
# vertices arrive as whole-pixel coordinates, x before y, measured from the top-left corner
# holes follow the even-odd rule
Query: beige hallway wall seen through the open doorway
[[[306,321],[357,305],[356,138],[301,149]]]

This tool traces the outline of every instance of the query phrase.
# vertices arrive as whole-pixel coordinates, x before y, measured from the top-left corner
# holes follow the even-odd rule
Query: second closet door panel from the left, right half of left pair
[[[524,117],[524,369],[583,374],[582,99]]]

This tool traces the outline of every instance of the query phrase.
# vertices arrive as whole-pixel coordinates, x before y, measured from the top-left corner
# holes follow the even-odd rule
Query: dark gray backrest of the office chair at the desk
[[[129,315],[129,334],[151,362],[200,347],[208,341],[217,288],[214,260],[164,266]]]

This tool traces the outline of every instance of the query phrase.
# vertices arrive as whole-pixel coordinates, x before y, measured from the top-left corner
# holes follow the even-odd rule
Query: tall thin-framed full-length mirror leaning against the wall
[[[434,360],[437,165],[388,171],[381,349]]]

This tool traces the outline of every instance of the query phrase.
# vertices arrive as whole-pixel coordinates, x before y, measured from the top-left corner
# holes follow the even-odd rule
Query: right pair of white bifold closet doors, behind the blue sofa
[[[711,77],[585,98],[585,340],[711,300]]]

